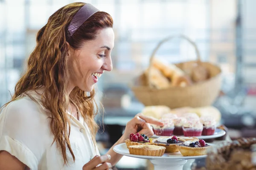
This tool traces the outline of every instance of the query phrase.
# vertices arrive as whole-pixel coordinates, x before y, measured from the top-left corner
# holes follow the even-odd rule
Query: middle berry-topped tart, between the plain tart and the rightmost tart
[[[165,152],[177,152],[177,144],[186,142],[184,139],[177,138],[176,136],[161,136],[157,139],[153,139],[152,144],[157,146],[166,147]]]

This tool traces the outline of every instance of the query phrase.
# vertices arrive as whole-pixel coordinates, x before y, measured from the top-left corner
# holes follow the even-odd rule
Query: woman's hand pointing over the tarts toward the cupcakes
[[[152,117],[144,116],[142,113],[137,114],[131,119],[125,127],[124,138],[129,139],[131,133],[145,134],[148,137],[154,135],[150,124],[163,126],[164,123]]]

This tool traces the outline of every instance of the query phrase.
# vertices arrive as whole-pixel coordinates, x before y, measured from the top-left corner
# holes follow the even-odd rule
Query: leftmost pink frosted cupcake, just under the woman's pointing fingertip
[[[152,125],[155,135],[159,136],[172,136],[174,130],[174,124],[172,119],[160,119],[164,123],[163,126]]]

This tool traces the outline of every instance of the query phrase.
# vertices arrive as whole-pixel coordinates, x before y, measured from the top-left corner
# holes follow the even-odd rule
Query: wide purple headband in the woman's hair
[[[76,30],[93,14],[98,12],[99,9],[92,6],[90,3],[82,6],[75,14],[70,24],[67,26],[67,40],[69,40]]]

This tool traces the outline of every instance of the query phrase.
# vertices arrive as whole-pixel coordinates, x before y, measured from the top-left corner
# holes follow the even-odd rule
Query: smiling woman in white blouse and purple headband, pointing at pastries
[[[113,151],[99,156],[94,84],[112,70],[112,17],[90,4],[60,8],[38,32],[26,73],[0,114],[1,170],[106,170],[121,158]],[[151,136],[138,114],[127,123],[130,133]],[[116,145],[114,144],[114,145]]]

